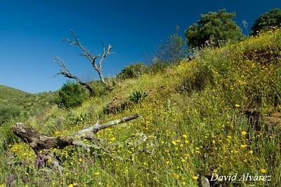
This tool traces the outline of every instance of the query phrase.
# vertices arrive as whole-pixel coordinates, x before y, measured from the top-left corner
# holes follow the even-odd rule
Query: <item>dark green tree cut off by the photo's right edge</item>
[[[280,27],[281,25],[281,10],[273,8],[267,13],[263,13],[254,22],[251,31],[253,35],[258,34],[261,30],[268,30],[272,27]]]

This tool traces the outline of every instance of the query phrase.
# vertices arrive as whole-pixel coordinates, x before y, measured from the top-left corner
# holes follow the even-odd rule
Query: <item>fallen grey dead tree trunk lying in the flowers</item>
[[[48,164],[52,168],[58,168],[60,171],[62,171],[63,167],[60,166],[58,160],[56,160],[55,157],[50,153],[52,148],[63,149],[67,146],[81,146],[82,148],[86,149],[86,151],[100,148],[98,147],[98,138],[96,136],[98,131],[119,123],[136,119],[138,117],[138,114],[134,114],[132,116],[127,116],[118,120],[112,120],[103,125],[100,125],[97,122],[91,127],[80,130],[79,132],[66,137],[49,137],[37,132],[37,130],[34,130],[32,127],[29,127],[24,123],[16,123],[13,126],[13,133],[20,137],[20,139],[22,139],[22,141],[24,141],[26,144],[28,144],[38,156],[38,159],[43,160],[44,164]],[[85,144],[82,141],[84,139],[91,141],[91,144]],[[101,147],[101,149],[107,153],[109,152],[105,148]]]

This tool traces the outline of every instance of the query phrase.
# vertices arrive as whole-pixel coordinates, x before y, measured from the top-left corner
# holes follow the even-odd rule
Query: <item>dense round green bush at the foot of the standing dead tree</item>
[[[62,108],[80,106],[85,99],[85,90],[77,83],[68,82],[58,91],[56,103]]]

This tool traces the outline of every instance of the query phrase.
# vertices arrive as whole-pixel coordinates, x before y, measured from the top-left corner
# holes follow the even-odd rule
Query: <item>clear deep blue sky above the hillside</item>
[[[115,54],[103,63],[105,75],[115,75],[133,62],[147,61],[160,41],[184,30],[200,13],[226,8],[236,12],[251,27],[254,20],[280,0],[172,0],[172,1],[86,1],[86,0],[0,0],[0,85],[27,92],[58,90],[66,79],[53,76],[55,55],[84,80],[96,76],[91,64],[79,57],[79,49],[62,41],[70,29],[92,53],[101,53],[100,41],[114,46]],[[96,78],[98,78],[96,76]]]

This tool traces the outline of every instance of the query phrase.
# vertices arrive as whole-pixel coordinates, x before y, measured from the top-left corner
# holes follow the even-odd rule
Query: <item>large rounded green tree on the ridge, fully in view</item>
[[[185,31],[188,46],[202,47],[208,43],[219,46],[228,41],[239,41],[244,35],[233,21],[235,15],[226,12],[226,9],[201,15],[200,20]]]

